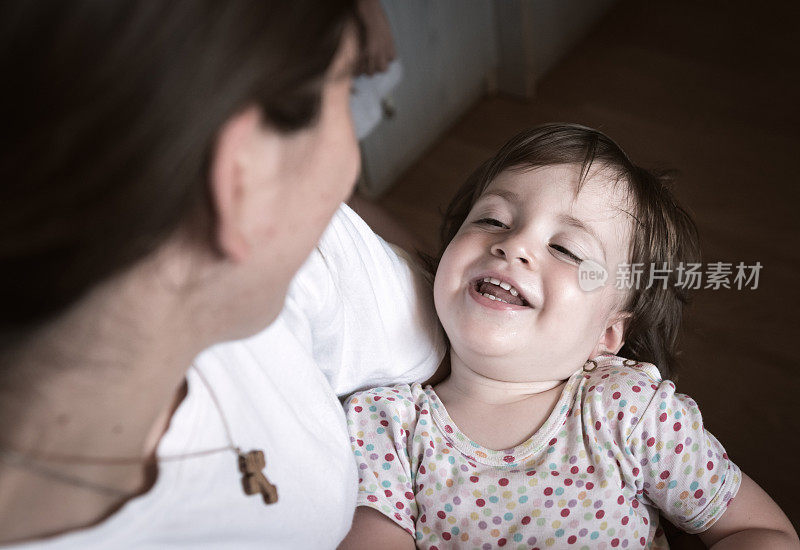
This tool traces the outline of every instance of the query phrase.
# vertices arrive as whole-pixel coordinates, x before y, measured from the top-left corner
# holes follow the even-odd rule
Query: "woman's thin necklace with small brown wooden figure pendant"
[[[244,490],[244,493],[246,495],[261,494],[264,504],[273,504],[278,502],[278,488],[270,483],[270,481],[267,479],[267,476],[263,472],[263,469],[266,467],[264,451],[254,449],[245,453],[239,446],[234,444],[233,437],[231,436],[231,430],[228,426],[228,420],[225,418],[225,414],[222,412],[222,406],[217,399],[217,395],[214,393],[214,390],[211,389],[211,384],[208,383],[208,380],[206,380],[205,375],[199,368],[197,368],[195,365],[192,365],[190,368],[197,373],[198,378],[200,378],[200,381],[208,391],[208,395],[211,397],[214,408],[217,410],[219,418],[222,421],[222,427],[225,431],[225,437],[228,440],[228,444],[222,447],[215,447],[213,449],[204,449],[202,451],[193,451],[179,455],[157,457],[156,461],[158,463],[172,462],[207,456],[224,451],[231,451],[235,453],[237,457],[239,472],[242,474],[242,489]],[[95,483],[79,476],[59,472],[58,470],[47,466],[46,463],[55,462],[61,464],[125,466],[144,464],[148,462],[147,459],[141,457],[85,457],[61,454],[22,453],[2,447],[0,447],[0,459],[2,459],[3,462],[9,466],[26,469],[41,476],[61,481],[62,483],[83,487],[85,489],[90,489],[112,497],[131,497],[133,494],[115,487],[109,487],[107,485]]]

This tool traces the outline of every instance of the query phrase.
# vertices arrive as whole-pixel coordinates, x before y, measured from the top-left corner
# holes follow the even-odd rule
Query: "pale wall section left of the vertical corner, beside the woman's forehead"
[[[494,11],[487,0],[384,0],[404,77],[396,116],[362,142],[376,195],[485,92],[497,64]]]

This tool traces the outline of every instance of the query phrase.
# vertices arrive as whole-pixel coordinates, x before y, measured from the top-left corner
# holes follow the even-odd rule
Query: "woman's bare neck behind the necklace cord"
[[[174,290],[131,290],[141,289],[98,291],[5,367],[0,543],[91,525],[154,483],[155,449],[185,395],[186,370],[210,342],[176,307]],[[20,455],[29,458],[9,458]]]

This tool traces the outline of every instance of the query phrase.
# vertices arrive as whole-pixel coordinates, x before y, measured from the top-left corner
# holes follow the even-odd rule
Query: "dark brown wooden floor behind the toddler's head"
[[[800,48],[791,2],[622,1],[541,81],[480,101],[380,203],[426,247],[466,175],[518,130],[579,122],[679,171],[704,261],[763,265],[757,290],[700,291],[678,389],[800,527]]]

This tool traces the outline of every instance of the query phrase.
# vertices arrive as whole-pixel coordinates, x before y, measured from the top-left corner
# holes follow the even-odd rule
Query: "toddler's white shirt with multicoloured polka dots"
[[[739,469],[655,366],[596,360],[536,434],[506,450],[467,438],[431,387],[354,394],[358,504],[429,549],[666,548],[659,511],[704,531],[735,496]]]

